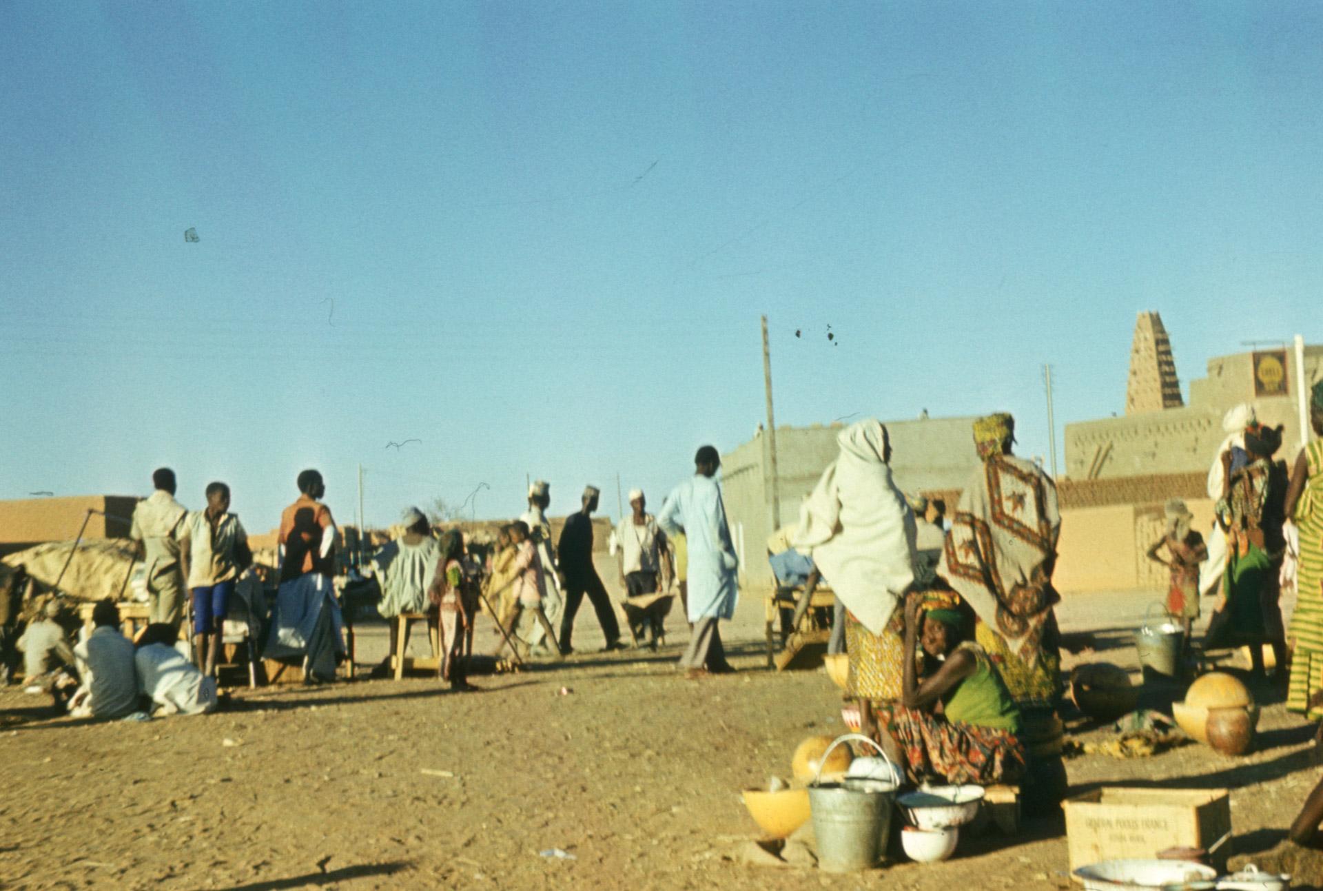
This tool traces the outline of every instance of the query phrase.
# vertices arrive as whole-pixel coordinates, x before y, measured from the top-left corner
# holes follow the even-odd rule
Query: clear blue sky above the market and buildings
[[[1138,310],[1183,381],[1323,340],[1320,45],[1315,3],[5,3],[0,498],[659,504],[763,418],[762,312],[778,421],[1045,454],[1041,364],[1058,425],[1122,410]]]

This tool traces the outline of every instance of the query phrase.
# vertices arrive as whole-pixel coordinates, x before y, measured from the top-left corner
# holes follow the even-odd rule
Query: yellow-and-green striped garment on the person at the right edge
[[[1304,458],[1308,478],[1295,506],[1301,564],[1295,613],[1287,630],[1295,641],[1295,653],[1286,707],[1310,720],[1320,720],[1323,708],[1310,708],[1308,703],[1310,696],[1323,690],[1323,440],[1304,446]]]

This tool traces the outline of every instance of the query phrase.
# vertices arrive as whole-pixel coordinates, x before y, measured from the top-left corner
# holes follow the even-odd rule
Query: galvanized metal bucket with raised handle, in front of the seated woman
[[[812,812],[814,837],[818,839],[818,868],[824,872],[873,868],[885,857],[890,838],[894,785],[877,780],[820,781],[827,755],[852,739],[868,743],[886,759],[881,747],[861,733],[839,736],[823,753],[818,776],[808,786],[808,806]]]

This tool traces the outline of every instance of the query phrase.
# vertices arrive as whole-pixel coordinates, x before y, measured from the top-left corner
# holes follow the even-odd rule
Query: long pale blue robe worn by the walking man
[[[717,481],[695,474],[676,486],[662,504],[658,526],[667,535],[685,536],[689,621],[732,618],[740,597],[736,583],[740,561],[730,540]]]

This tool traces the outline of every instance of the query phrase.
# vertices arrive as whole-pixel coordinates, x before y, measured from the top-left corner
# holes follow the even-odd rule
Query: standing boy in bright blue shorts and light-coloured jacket
[[[180,538],[184,576],[192,592],[197,665],[214,678],[234,584],[253,565],[247,532],[238,515],[230,514],[229,486],[208,483],[206,508],[188,515]]]

